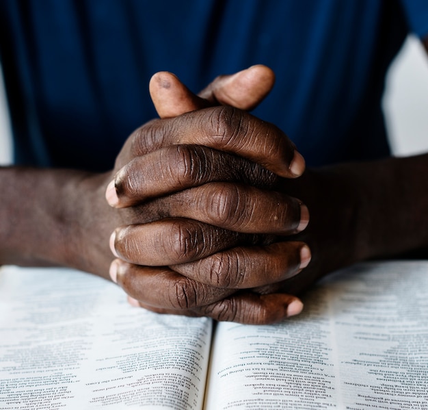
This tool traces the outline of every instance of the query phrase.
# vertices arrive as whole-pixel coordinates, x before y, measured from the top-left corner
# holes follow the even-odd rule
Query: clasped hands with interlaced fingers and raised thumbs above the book
[[[293,240],[308,208],[284,190],[304,159],[280,129],[245,112],[272,86],[265,66],[219,77],[201,97],[169,73],[152,78],[161,119],[127,140],[106,192],[127,210],[111,235],[110,275],[131,303],[252,324],[302,310],[271,289],[310,261]]]

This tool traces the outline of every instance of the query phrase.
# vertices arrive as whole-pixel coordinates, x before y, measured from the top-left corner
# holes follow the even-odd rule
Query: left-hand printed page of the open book
[[[0,409],[202,408],[211,320],[62,269],[0,270]]]

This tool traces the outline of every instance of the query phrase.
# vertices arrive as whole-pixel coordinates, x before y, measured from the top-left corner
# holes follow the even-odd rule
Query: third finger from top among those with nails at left
[[[131,298],[161,309],[193,309],[235,292],[198,283],[166,267],[137,266],[121,259],[111,263],[110,277]]]

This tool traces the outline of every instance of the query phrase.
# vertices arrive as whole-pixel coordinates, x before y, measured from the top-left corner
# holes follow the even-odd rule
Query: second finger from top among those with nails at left
[[[166,266],[193,261],[238,244],[254,244],[257,235],[219,229],[176,218],[120,227],[110,238],[111,251],[133,264]]]

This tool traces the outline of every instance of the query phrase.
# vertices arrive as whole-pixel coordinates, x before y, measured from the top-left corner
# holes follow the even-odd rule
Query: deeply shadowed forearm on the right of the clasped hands
[[[428,250],[428,155],[308,170],[287,181],[309,208],[311,264],[325,274],[364,259]]]

